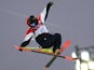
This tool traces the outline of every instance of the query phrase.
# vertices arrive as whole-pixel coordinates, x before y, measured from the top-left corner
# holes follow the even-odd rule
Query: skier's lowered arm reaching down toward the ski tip
[[[21,46],[25,47],[26,45],[28,45],[32,36],[33,36],[33,32],[30,29],[28,29],[26,32],[26,37],[25,37],[23,43],[21,44]]]

